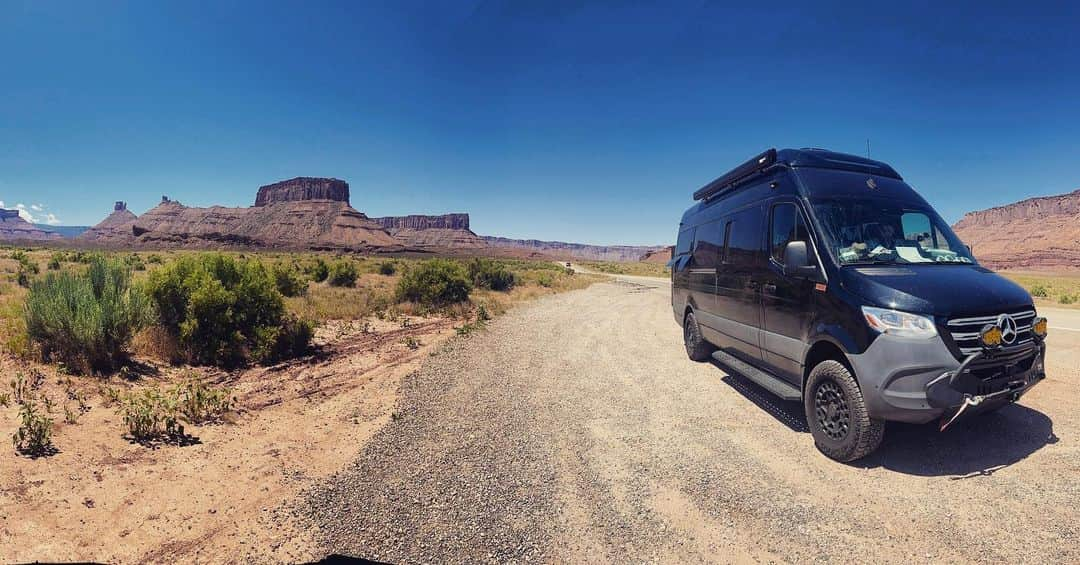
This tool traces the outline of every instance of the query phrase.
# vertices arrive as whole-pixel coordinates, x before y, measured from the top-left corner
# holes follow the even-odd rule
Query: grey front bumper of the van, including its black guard
[[[881,335],[865,352],[848,355],[874,418],[924,423],[1015,402],[1045,378],[1041,341],[980,351],[959,362],[941,338]]]

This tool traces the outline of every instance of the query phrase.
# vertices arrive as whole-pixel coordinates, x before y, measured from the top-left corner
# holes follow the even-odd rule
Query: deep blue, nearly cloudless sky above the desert
[[[1076,8],[738,4],[0,0],[0,201],[334,176],[373,216],[656,244],[766,147],[867,138],[949,221],[1080,188]]]

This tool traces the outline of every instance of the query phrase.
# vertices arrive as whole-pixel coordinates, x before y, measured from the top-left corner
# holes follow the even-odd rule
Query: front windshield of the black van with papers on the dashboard
[[[840,265],[975,263],[932,210],[864,199],[812,205],[824,243]]]

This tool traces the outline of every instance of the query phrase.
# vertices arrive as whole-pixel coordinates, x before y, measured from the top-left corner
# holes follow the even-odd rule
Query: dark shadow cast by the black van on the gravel
[[[723,365],[714,364],[724,371]],[[780,400],[739,374],[720,380],[789,430],[809,433],[802,404]],[[937,427],[936,420],[920,426],[889,422],[878,450],[851,465],[920,476],[971,479],[994,474],[1058,441],[1053,420],[1023,404],[961,419],[944,432]]]

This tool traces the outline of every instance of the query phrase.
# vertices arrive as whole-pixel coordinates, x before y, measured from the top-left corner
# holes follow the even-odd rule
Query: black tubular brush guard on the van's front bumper
[[[955,371],[942,373],[940,377],[930,381],[926,389],[927,401],[933,406],[946,408],[945,413],[942,414],[940,430],[945,431],[946,428],[957,421],[963,414],[978,412],[980,406],[983,406],[987,402],[993,404],[993,401],[1001,399],[1005,399],[1008,402],[1016,402],[1028,389],[1045,378],[1047,375],[1043,367],[1045,345],[1040,340],[1036,344],[1036,361],[1032,362],[1031,368],[1023,374],[1015,375],[1004,384],[1001,390],[995,392],[973,394],[961,390],[961,378],[968,372],[971,364],[982,359],[993,358],[995,350],[991,349],[984,349],[968,355]],[[951,414],[951,416],[946,417],[948,414]]]

